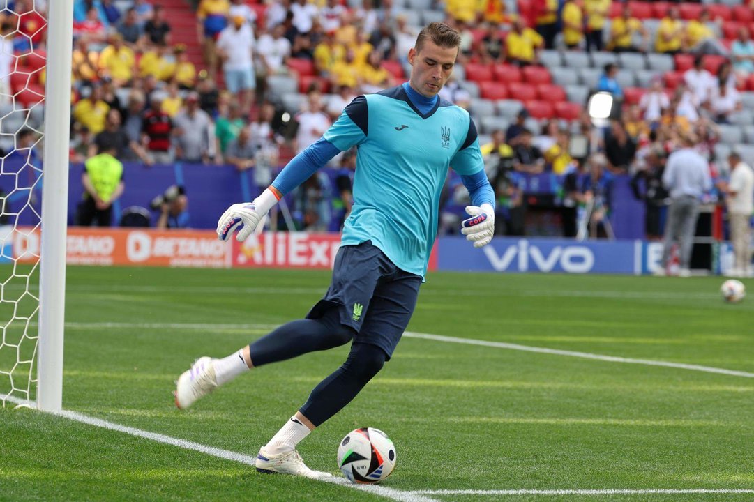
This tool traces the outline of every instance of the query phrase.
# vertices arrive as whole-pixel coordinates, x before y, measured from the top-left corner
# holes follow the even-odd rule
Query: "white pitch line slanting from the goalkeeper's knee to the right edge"
[[[475,340],[474,338],[457,338],[455,336],[432,335],[431,333],[404,332],[407,338],[423,338],[425,340],[446,341],[455,344],[481,345],[483,347],[497,347],[509,350],[523,350],[524,352],[536,352],[538,354],[553,354],[555,356],[581,357],[608,363],[643,364],[645,366],[663,366],[665,368],[688,369],[695,372],[718,373],[720,375],[740,376],[754,378],[754,373],[740,372],[734,369],[715,368],[714,366],[700,366],[697,364],[671,363],[670,361],[656,361],[649,359],[631,359],[630,357],[605,356],[591,354],[590,352],[575,352],[573,350],[559,350],[547,347],[532,347],[531,345],[509,344],[503,341]]]

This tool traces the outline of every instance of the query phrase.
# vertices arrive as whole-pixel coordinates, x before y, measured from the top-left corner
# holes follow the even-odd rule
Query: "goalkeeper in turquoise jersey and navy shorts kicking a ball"
[[[492,240],[495,198],[477,129],[464,109],[437,96],[452,73],[460,42],[446,24],[426,26],[409,51],[409,82],[355,98],[256,200],[232,205],[219,219],[219,239],[238,231],[237,239],[245,240],[280,197],[339,152],[358,147],[354,205],[324,297],[305,319],[284,324],[228,357],[201,357],[177,382],[176,406],[186,409],[250,369],[352,342],[345,363],[314,387],[304,406],[259,450],[260,472],[329,476],[306,467],[296,445],[350,403],[390,360],[427,271],[448,167],[461,174],[473,204],[466,208],[470,218],[461,232],[475,247]]]

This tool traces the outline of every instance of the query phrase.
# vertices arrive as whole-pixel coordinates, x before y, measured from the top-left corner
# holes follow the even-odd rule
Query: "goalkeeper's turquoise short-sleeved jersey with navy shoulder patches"
[[[448,168],[484,169],[468,112],[438,98],[422,114],[398,86],[358,96],[323,136],[341,151],[358,147],[341,245],[372,240],[398,268],[424,277]]]

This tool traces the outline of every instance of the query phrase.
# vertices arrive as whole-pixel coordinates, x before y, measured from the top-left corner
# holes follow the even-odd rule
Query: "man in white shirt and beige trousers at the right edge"
[[[751,215],[754,213],[754,172],[741,161],[737,152],[728,155],[731,167],[731,179],[723,185],[728,196],[728,222],[731,231],[731,243],[735,256],[734,267],[728,272],[733,277],[752,277],[749,249],[751,242]]]

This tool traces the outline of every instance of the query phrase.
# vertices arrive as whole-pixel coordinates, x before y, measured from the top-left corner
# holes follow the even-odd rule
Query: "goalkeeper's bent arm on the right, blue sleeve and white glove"
[[[450,165],[461,175],[471,196],[471,205],[466,207],[470,218],[461,222],[461,234],[473,242],[474,247],[485,246],[495,231],[495,191],[484,172],[477,127],[471,118],[466,139]]]

